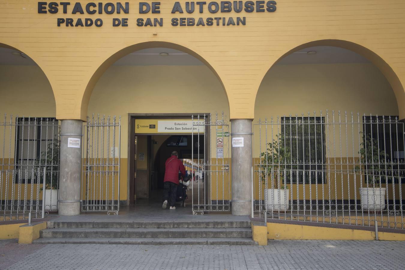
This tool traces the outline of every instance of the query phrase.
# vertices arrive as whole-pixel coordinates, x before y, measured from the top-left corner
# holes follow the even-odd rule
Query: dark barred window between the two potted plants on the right
[[[286,183],[326,183],[324,117],[282,117],[281,136],[291,154]]]

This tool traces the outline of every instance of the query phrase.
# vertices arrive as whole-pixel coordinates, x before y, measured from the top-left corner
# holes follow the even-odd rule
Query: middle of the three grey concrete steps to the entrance
[[[251,228],[49,228],[41,238],[252,238]]]

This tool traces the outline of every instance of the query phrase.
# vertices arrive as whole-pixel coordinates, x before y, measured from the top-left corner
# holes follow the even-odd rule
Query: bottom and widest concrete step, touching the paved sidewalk
[[[33,244],[256,245],[251,238],[39,238]]]

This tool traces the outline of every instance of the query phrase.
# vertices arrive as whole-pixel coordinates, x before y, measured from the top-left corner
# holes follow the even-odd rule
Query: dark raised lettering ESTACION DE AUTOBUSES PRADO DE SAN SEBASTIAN
[[[172,26],[239,26],[246,25],[246,17],[180,17],[185,13],[252,13],[252,12],[274,12],[276,11],[275,1],[221,1],[221,2],[175,2],[172,14],[178,15],[171,19]],[[160,2],[139,2],[136,7],[139,14],[160,13]],[[38,2],[38,13],[63,13],[63,14],[128,14],[130,3],[124,2]],[[58,26],[66,27],[101,27],[104,21],[100,18],[57,18]],[[129,18],[111,18],[112,26],[126,27],[131,23],[136,26],[163,26],[163,18],[136,18],[131,21]]]

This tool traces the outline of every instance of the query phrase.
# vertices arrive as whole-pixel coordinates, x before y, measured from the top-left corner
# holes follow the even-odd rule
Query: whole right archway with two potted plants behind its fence
[[[360,45],[320,40],[283,55],[256,96],[255,212],[403,228],[402,106],[395,72]]]

